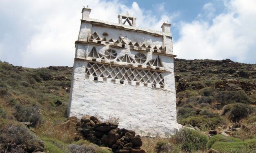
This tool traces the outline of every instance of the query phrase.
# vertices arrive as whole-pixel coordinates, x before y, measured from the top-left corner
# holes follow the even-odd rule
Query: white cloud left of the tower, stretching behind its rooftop
[[[163,20],[172,19],[167,15],[158,19],[152,12],[142,10],[136,2],[127,7],[118,0],[24,0],[15,3],[4,0],[0,5],[1,16],[9,25],[15,25],[4,28],[3,33],[11,38],[0,38],[0,59],[33,68],[73,65],[74,42],[78,37],[83,6],[89,5],[92,9],[91,18],[116,23],[120,12],[129,11],[137,17],[136,26],[155,30],[161,30]]]

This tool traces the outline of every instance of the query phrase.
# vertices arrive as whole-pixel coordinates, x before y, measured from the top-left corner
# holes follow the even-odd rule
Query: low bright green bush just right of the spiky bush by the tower
[[[207,142],[207,149],[210,149],[211,146],[215,143],[215,142],[238,142],[238,141],[242,141],[239,138],[233,138],[233,137],[227,137],[227,136],[223,136],[221,134],[217,134],[215,136],[212,136],[209,141]]]

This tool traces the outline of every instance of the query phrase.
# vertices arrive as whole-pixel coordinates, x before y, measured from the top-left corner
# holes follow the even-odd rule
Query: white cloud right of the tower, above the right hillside
[[[184,59],[232,59],[256,63],[256,1],[231,0],[227,13],[212,20],[180,22],[180,39],[174,53]]]

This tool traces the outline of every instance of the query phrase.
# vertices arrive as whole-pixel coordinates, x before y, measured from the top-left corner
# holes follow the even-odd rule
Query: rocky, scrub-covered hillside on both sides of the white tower
[[[142,137],[142,146],[135,150],[203,153],[211,148],[219,152],[255,152],[256,64],[229,59],[175,59],[174,67],[177,119],[188,130],[167,138],[146,133],[149,137]],[[81,128],[88,125],[93,129],[93,123],[75,121],[75,126],[69,126],[71,121],[65,116],[71,73],[71,67],[32,69],[0,62],[0,152],[110,152],[91,144],[85,136],[79,137]],[[100,118],[100,114],[94,113]],[[105,122],[101,126],[118,122],[118,118],[110,116]],[[115,142],[118,145],[104,146],[125,150],[122,147],[127,147],[124,145],[130,140],[120,141]],[[114,147],[113,151],[118,149]]]

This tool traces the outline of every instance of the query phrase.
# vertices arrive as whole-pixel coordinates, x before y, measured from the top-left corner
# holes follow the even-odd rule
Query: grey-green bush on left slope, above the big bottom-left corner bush
[[[20,103],[14,106],[16,111],[13,116],[20,122],[31,122],[32,126],[35,127],[38,122],[42,121],[42,116],[38,113],[38,108],[31,105],[22,105]]]

